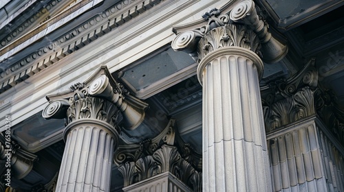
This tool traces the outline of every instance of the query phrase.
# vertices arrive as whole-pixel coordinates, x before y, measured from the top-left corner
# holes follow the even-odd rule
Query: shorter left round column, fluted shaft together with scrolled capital
[[[147,105],[125,94],[106,67],[71,91],[47,98],[54,101],[43,110],[43,117],[66,121],[56,191],[109,191],[120,127],[136,128]]]

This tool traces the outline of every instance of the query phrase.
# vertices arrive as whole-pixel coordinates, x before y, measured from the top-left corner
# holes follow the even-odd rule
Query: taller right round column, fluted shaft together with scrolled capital
[[[252,1],[227,6],[206,12],[205,25],[197,21],[173,29],[178,34],[173,49],[199,63],[203,190],[272,191],[259,90],[264,65],[257,53],[276,62],[288,48],[271,36]]]

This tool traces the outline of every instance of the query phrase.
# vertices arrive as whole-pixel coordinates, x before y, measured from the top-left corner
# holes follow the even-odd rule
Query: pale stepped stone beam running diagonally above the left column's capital
[[[114,72],[159,49],[171,42],[174,36],[171,33],[172,25],[187,21],[196,13],[199,15],[214,3],[219,5],[225,2],[161,1],[155,8],[133,19],[132,23],[120,25],[121,27],[111,30],[106,37],[98,38],[97,43],[86,46],[83,48],[84,51],[75,51],[67,59],[52,64],[47,73],[33,75],[25,82],[1,93],[0,98],[4,102],[0,113],[3,115],[10,113],[13,117],[12,124],[17,125],[30,117],[32,112],[43,110],[46,94],[63,91],[69,87],[69,84],[82,82],[88,76],[86,73],[92,73],[100,64],[106,64],[110,71]],[[181,10],[180,6],[184,9]],[[190,12],[190,9],[193,12]],[[130,54],[127,53],[128,51]],[[3,129],[4,126],[0,128]]]

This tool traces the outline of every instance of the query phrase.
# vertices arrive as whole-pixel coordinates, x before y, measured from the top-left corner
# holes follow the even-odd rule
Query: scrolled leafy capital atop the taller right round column
[[[230,12],[230,14],[222,14],[226,12]],[[219,10],[214,8],[206,12],[202,17],[205,20],[204,22],[195,21],[186,25],[173,27],[173,32],[177,36],[171,44],[175,51],[185,51],[197,62],[200,62],[204,58],[204,51],[202,49],[206,49],[206,53],[208,53],[219,48],[213,47],[214,49],[211,49],[208,45],[205,45],[206,47],[204,45],[198,45],[202,38],[205,36],[209,38],[209,36],[213,35],[213,39],[208,40],[214,41],[211,45],[217,45],[218,43],[223,46],[241,47],[241,45],[244,45],[246,48],[247,46],[245,45],[250,44],[250,50],[257,52],[259,44],[256,45],[255,41],[246,42],[246,40],[252,40],[250,37],[246,38],[246,34],[250,34],[250,36],[253,33],[256,34],[261,43],[259,50],[261,53],[259,52],[258,54],[267,63],[278,62],[288,53],[286,43],[273,38],[270,32],[268,32],[268,24],[263,21],[263,16],[257,14],[255,3],[252,0],[241,1],[234,7],[228,3]],[[228,27],[228,25],[246,25],[247,27],[242,29],[246,30],[247,33],[240,34],[233,32],[232,34],[234,35],[231,36],[230,32],[224,32],[222,36],[218,36],[218,33],[221,31],[221,29],[217,29],[218,27],[223,29],[231,28],[230,31],[233,31],[234,27]],[[217,32],[213,32],[215,29],[217,29]],[[249,32],[248,29],[252,30],[252,32]],[[239,38],[239,41],[237,41],[240,36],[244,38]],[[244,42],[241,42],[241,40],[244,40]]]

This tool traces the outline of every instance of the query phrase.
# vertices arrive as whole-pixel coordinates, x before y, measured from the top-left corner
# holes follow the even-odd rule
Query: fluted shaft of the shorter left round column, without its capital
[[[109,191],[118,134],[96,119],[70,123],[56,191]]]

